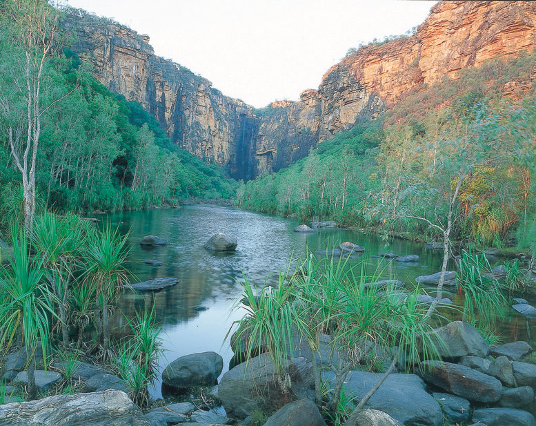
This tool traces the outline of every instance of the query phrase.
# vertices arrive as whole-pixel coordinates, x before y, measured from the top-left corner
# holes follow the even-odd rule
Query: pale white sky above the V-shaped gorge
[[[155,54],[261,107],[299,99],[349,48],[399,35],[436,1],[63,0],[148,34]]]

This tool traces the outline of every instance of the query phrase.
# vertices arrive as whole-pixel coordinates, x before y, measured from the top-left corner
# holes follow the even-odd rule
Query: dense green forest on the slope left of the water
[[[220,168],[172,144],[139,104],[95,80],[68,48],[72,35],[61,32],[59,12],[46,13],[40,22],[0,14],[0,199],[8,211],[22,202],[25,179],[34,180],[36,204],[54,211],[234,193]]]

